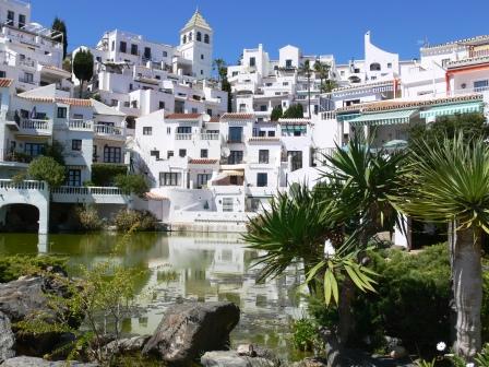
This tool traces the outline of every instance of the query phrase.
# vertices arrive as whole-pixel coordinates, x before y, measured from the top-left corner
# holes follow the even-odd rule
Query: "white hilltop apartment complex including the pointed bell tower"
[[[95,70],[88,88],[130,117],[160,109],[220,116],[227,111],[227,93],[211,80],[214,34],[199,11],[182,27],[179,39],[178,46],[170,46],[115,29],[106,32],[95,47],[80,47],[73,55],[91,50]]]

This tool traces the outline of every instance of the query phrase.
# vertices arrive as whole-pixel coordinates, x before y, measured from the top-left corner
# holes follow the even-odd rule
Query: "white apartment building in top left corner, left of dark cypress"
[[[62,69],[63,35],[31,21],[31,3],[0,1],[0,78],[17,92],[55,84],[71,91],[71,73]]]

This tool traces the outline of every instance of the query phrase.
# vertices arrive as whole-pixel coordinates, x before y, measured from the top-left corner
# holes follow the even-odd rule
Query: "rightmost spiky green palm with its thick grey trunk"
[[[450,223],[455,352],[473,359],[481,347],[481,235],[489,233],[489,146],[482,139],[418,142],[404,169],[406,192],[393,198],[412,217]]]

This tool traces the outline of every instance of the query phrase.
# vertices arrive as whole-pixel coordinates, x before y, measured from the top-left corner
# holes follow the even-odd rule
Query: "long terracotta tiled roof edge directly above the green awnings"
[[[467,94],[456,97],[443,97],[443,98],[418,99],[418,100],[390,99],[390,100],[372,102],[367,104],[358,104],[347,107],[341,107],[336,109],[336,113],[347,113],[356,110],[361,111],[390,110],[390,109],[425,107],[425,106],[451,104],[456,102],[469,102],[469,100],[482,102],[482,95]]]

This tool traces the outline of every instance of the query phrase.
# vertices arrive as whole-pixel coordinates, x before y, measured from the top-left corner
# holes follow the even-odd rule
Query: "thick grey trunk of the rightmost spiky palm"
[[[482,305],[481,235],[477,229],[455,232],[453,295],[456,310],[455,353],[470,360],[481,347]]]

